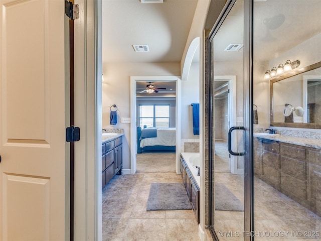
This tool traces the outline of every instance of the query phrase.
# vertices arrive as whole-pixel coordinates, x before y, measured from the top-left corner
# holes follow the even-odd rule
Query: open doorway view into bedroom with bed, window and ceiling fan
[[[136,82],[136,172],[176,171],[176,82]]]

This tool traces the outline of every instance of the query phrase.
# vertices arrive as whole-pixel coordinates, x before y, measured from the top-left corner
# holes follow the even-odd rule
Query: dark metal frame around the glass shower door
[[[209,37],[207,38],[207,43],[205,46],[208,48],[205,50],[208,53],[208,157],[209,157],[209,229],[210,232],[215,240],[219,240],[216,232],[215,227],[213,225],[213,216],[212,216],[212,203],[213,203],[213,173],[212,173],[212,158],[214,157],[214,148],[213,148],[213,95],[212,95],[212,79],[213,76],[213,69],[212,69],[212,47],[211,41],[213,40],[215,34],[225,21],[227,15],[229,14],[230,10],[233,8],[235,2],[237,0],[228,0],[218,17],[214,27],[212,28]],[[254,223],[254,211],[253,211],[253,77],[252,77],[252,21],[253,21],[253,0],[244,0],[244,56],[243,56],[243,111],[244,111],[244,240],[245,241],[252,241],[254,240],[254,236],[251,233],[254,230],[253,223]],[[246,235],[249,234],[249,235]]]

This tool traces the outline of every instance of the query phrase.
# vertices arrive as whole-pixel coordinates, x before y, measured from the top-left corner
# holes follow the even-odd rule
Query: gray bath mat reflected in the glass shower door
[[[243,212],[244,207],[223,183],[215,183],[215,210]]]

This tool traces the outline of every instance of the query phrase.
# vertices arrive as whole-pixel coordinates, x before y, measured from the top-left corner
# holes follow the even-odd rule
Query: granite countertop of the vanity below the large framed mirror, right
[[[262,139],[273,140],[277,142],[284,142],[304,147],[311,147],[316,149],[321,149],[321,140],[303,137],[292,137],[292,136],[274,136],[274,137],[256,137]]]

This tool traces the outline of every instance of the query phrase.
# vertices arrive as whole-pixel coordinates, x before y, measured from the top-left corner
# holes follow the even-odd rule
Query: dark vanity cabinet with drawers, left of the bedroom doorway
[[[102,188],[122,169],[122,137],[102,143],[101,149],[101,186]]]

